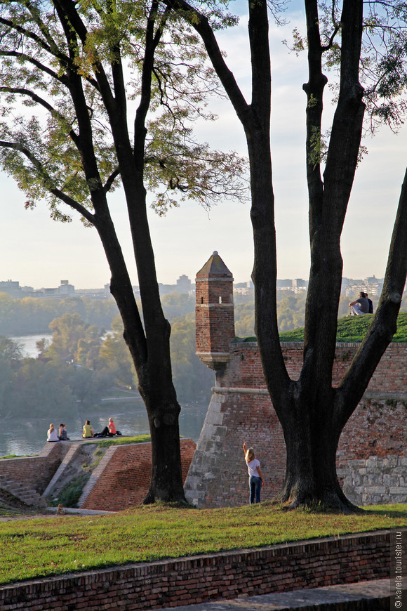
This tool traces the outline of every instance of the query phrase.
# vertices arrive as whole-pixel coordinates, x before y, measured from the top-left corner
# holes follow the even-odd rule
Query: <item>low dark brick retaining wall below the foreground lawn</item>
[[[2,611],[142,611],[389,577],[390,532],[67,574],[0,588]]]

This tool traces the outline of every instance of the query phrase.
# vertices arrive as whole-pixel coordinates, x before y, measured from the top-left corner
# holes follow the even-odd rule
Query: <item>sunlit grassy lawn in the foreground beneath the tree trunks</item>
[[[267,502],[201,510],[140,506],[114,515],[15,520],[0,523],[0,583],[406,525],[407,505],[342,515],[286,511]]]

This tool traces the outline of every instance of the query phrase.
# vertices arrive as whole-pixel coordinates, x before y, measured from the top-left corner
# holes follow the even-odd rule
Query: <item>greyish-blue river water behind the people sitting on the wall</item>
[[[35,343],[42,337],[44,334],[11,339],[20,343],[25,356],[36,357],[38,353]],[[191,402],[181,407],[180,434],[196,442],[204,424],[208,405]],[[100,406],[86,409],[86,411],[74,405],[69,412],[50,414],[47,419],[32,414],[32,419],[29,421],[21,421],[18,414],[10,414],[6,417],[0,414],[0,456],[36,454],[46,443],[46,432],[51,422],[55,426],[58,426],[60,422],[65,423],[68,437],[73,440],[81,438],[82,427],[86,420],[91,421],[95,431],[102,431],[107,426],[109,417],[114,419],[116,429],[124,435],[149,433],[147,412],[142,399],[138,396],[103,401]]]

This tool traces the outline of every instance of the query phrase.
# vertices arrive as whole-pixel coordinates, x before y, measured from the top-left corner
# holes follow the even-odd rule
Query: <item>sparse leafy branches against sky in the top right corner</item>
[[[340,73],[342,48],[342,6],[340,2],[320,4],[319,30],[323,68]],[[359,79],[366,104],[365,128],[373,133],[380,124],[397,131],[407,114],[407,4],[403,0],[364,2],[363,37]],[[288,45],[297,55],[309,48],[298,27]],[[331,83],[334,102],[339,83]]]

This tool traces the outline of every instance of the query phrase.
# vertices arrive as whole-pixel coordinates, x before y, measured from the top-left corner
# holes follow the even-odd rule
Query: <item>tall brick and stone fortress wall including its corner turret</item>
[[[263,500],[272,499],[279,492],[286,467],[283,431],[267,393],[257,343],[229,342],[222,362],[216,362],[214,346],[218,346],[223,327],[225,336],[230,336],[230,320],[229,317],[222,319],[222,305],[215,293],[205,303],[203,271],[208,275],[208,285],[211,284],[213,257],[199,272],[196,334],[197,354],[200,357],[204,354],[202,360],[215,369],[216,383],[185,482],[187,499],[199,507],[247,504],[248,475],[243,441],[254,447],[260,459],[265,477]],[[216,268],[220,265],[218,261]],[[223,262],[222,265],[225,266]],[[232,277],[230,272],[229,276]],[[232,303],[233,287],[226,273],[224,277],[228,280],[222,285],[222,302],[229,299]],[[220,280],[217,277],[212,286],[219,286]],[[218,320],[215,330],[206,326],[203,306],[215,311]],[[302,342],[282,343],[281,347],[288,374],[298,379]],[[357,343],[337,344],[334,384],[342,378],[358,347]],[[342,431],[337,452],[338,477],[348,498],[357,504],[407,501],[406,357],[406,343],[390,344]]]

